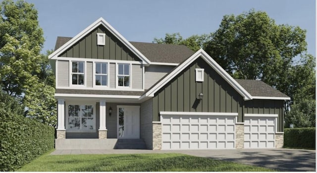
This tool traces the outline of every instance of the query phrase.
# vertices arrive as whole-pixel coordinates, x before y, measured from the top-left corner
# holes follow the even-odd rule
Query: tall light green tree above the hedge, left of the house
[[[1,88],[11,96],[21,96],[37,81],[43,30],[37,10],[26,1],[4,0],[0,4]]]

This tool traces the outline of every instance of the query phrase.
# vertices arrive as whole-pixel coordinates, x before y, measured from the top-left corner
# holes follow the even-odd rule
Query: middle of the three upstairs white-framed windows
[[[107,86],[108,85],[108,63],[96,62],[95,70],[95,85]]]

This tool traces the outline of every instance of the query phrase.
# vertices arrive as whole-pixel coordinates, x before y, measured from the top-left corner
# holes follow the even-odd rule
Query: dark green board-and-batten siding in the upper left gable
[[[97,33],[105,33],[105,45],[97,45]],[[103,25],[99,25],[92,32],[84,36],[68,50],[64,51],[59,57],[68,58],[94,58],[94,59],[113,59],[113,60],[135,60],[141,61],[126,46],[124,46],[113,34]]]

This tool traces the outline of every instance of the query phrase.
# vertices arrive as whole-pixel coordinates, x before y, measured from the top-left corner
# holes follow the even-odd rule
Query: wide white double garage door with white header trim
[[[236,113],[161,112],[162,150],[235,148]]]

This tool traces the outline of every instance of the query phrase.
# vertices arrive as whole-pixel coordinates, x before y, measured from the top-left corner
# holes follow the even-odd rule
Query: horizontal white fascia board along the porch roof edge
[[[128,95],[98,95],[98,94],[63,94],[55,93],[55,97],[85,97],[85,98],[119,98],[119,99],[137,99],[140,96],[128,96]]]

